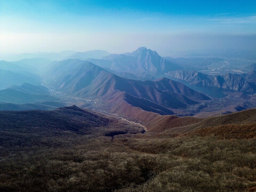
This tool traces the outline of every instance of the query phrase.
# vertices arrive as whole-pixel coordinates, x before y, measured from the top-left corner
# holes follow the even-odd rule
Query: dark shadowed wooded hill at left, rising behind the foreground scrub
[[[51,111],[0,111],[0,119],[1,131],[18,131],[26,134],[49,134],[54,131],[68,130],[77,134],[108,133],[121,125],[127,133],[143,132],[141,126],[132,126],[117,118],[102,116],[76,106]],[[102,130],[98,130],[98,127]],[[122,128],[116,131],[122,131]]]

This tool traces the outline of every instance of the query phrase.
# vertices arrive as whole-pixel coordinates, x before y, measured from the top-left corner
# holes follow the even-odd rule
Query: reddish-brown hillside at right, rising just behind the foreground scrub
[[[208,118],[155,116],[147,122],[149,132],[170,135],[200,135],[224,139],[248,139],[256,137],[256,109],[248,109]]]

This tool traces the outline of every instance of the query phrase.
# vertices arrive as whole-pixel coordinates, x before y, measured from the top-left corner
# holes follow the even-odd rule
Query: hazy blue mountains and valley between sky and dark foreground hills
[[[243,109],[254,106],[255,71],[248,74],[208,75],[190,70],[191,66],[201,70],[210,70],[209,66],[221,70],[223,65],[229,66],[225,59],[162,58],[156,51],[146,47],[123,54],[109,54],[101,50],[51,53],[59,55],[55,59],[81,59],[53,62],[51,58],[44,58],[47,54],[0,62],[2,109],[7,106],[19,110],[34,107],[52,109],[55,106],[42,106],[41,103],[54,101],[64,105],[75,103],[79,107],[104,110],[139,122],[148,122],[145,121],[146,116],[155,117],[157,114],[204,116],[240,110],[237,106]],[[41,58],[33,58],[35,56]],[[247,67],[253,69],[253,66]],[[20,92],[21,88],[18,87],[26,83],[44,85],[52,92],[44,94],[42,98],[39,97],[40,92]],[[237,95],[237,91],[245,95]],[[211,95],[211,98],[205,94]],[[25,100],[26,95],[30,99]],[[57,98],[60,100],[55,100]]]

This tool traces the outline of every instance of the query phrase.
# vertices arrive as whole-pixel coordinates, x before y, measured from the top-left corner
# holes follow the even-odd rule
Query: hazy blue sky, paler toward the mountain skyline
[[[0,53],[256,51],[255,0],[0,0]]]

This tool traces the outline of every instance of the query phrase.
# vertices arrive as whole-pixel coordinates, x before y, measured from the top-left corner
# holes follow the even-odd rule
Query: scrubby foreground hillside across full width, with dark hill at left
[[[170,116],[172,127],[143,134],[138,124],[75,106],[2,111],[0,191],[255,191],[255,111]],[[237,134],[240,125],[250,137]]]

